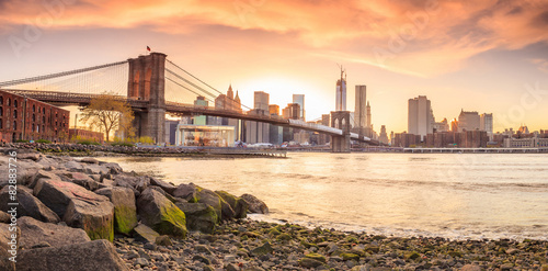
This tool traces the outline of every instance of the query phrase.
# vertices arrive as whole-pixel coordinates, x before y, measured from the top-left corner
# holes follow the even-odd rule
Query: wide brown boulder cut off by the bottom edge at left
[[[21,250],[16,268],[18,271],[129,270],[116,253],[114,246],[106,240]]]

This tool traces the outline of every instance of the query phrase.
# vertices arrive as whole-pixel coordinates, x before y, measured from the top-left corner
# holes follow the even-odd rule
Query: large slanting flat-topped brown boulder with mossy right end
[[[83,228],[91,239],[114,238],[114,205],[106,196],[52,179],[39,179],[34,194],[69,226]]]

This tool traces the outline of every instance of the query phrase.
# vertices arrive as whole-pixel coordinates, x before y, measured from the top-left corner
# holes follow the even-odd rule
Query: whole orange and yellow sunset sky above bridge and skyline
[[[114,63],[146,46],[242,103],[265,91],[307,120],[335,108],[338,64],[367,84],[375,129],[407,131],[407,101],[436,121],[493,113],[548,129],[547,0],[0,0],[0,81]],[[189,93],[190,94],[190,93]]]

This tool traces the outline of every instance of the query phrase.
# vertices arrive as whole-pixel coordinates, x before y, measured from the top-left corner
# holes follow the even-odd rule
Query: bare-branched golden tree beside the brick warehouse
[[[106,134],[106,140],[112,131],[122,131],[126,137],[135,135],[132,122],[134,114],[126,101],[118,99],[112,93],[103,93],[91,99],[81,115],[84,123],[89,123],[91,128],[99,128]]]

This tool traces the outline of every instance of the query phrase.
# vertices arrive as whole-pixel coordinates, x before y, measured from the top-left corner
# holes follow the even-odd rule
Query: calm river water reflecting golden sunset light
[[[307,154],[286,159],[106,157],[270,207],[255,219],[396,236],[548,239],[548,155]]]

